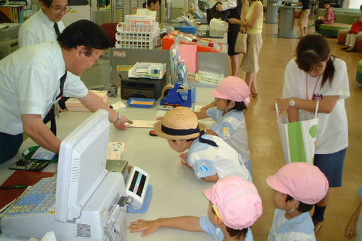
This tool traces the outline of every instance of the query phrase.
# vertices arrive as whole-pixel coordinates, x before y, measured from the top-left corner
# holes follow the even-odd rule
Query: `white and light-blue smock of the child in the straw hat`
[[[216,135],[202,135],[202,138],[212,140],[218,145],[214,147],[199,142],[199,138],[192,142],[187,153],[187,163],[194,169],[197,179],[218,174],[219,179],[224,176],[239,176],[243,180],[251,181],[251,175],[241,161],[238,152]]]

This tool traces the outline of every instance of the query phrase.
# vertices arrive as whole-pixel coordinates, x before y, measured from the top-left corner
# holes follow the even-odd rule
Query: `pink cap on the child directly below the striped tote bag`
[[[292,162],[268,176],[266,183],[306,204],[315,204],[326,196],[329,183],[318,167],[306,162]]]

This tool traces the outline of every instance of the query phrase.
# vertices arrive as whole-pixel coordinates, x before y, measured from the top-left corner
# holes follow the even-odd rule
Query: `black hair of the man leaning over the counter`
[[[93,48],[105,50],[112,46],[106,32],[97,23],[89,20],[79,20],[72,23],[63,30],[57,41],[60,46],[67,50],[84,45],[89,50],[89,55],[91,55]]]

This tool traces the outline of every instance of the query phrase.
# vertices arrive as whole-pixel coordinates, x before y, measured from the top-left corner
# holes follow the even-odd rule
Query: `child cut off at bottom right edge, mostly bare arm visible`
[[[358,196],[362,198],[362,184],[358,189]],[[362,241],[362,201],[359,203],[356,211],[349,218],[349,223],[346,226],[346,237],[355,241]]]

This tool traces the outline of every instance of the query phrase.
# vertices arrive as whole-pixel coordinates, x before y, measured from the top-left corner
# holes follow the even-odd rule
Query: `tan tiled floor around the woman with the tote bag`
[[[266,240],[273,220],[272,191],[265,179],[275,174],[284,164],[280,147],[276,117],[270,116],[268,106],[280,97],[283,91],[284,69],[293,57],[297,39],[277,38],[278,24],[264,24],[263,47],[260,52],[258,72],[258,99],[251,101],[246,111],[249,147],[253,163],[253,180],[263,198],[263,215],[253,225],[254,240]],[[295,33],[297,33],[297,28]],[[309,28],[313,33],[314,29]],[[362,89],[356,82],[356,67],[361,53],[344,52],[336,38],[327,38],[332,55],[346,61],[349,72],[351,98],[346,100],[349,116],[349,148],[344,166],[343,186],[331,190],[331,199],[325,215],[325,223],[317,240],[347,240],[344,228],[349,216],[361,201],[356,191],[362,182]],[[242,57],[242,56],[240,56]],[[241,70],[240,70],[241,71]],[[231,70],[229,68],[229,73]],[[241,72],[241,77],[244,73]]]

